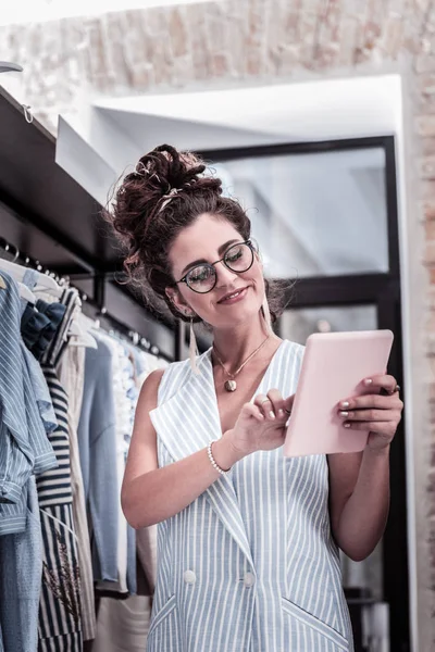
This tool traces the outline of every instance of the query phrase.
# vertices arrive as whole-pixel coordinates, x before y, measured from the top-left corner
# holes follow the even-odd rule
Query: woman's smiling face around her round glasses
[[[234,226],[224,218],[200,215],[174,240],[169,259],[174,279],[179,280],[200,263],[220,261],[232,244],[244,242]],[[229,259],[232,260],[232,259]],[[176,308],[187,314],[197,314],[213,327],[233,327],[256,316],[263,302],[264,279],[258,255],[246,272],[233,272],[220,262],[214,265],[216,284],[207,293],[198,293],[185,283],[167,288],[167,296]]]

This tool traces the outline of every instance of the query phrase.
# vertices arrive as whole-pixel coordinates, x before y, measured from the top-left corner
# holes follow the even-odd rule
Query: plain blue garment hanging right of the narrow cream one
[[[116,421],[112,353],[101,339],[86,349],[78,447],[90,515],[94,579],[117,581]]]

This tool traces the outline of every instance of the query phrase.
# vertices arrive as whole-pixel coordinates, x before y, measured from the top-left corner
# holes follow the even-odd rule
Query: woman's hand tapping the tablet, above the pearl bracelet
[[[283,399],[277,389],[271,389],[268,396],[258,394],[253,403],[245,403],[234,428],[223,436],[235,455],[245,457],[283,446],[294,399],[294,394]]]

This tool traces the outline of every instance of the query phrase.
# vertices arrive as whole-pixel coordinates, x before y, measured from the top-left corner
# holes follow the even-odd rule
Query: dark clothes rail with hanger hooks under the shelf
[[[159,347],[151,342],[145,335],[138,333],[137,330],[130,329],[128,325],[111,315],[105,309],[103,302],[99,303],[92,299],[89,299],[83,289],[76,287],[74,283],[71,283],[71,278],[60,276],[55,272],[51,272],[48,267],[44,267],[39,261],[33,260],[27,254],[21,252],[15,244],[8,242],[8,240],[2,237],[0,237],[0,250],[4,253],[11,254],[11,262],[23,265],[24,267],[37,269],[41,274],[47,274],[48,276],[54,278],[54,280],[65,289],[69,287],[74,287],[80,298],[82,310],[84,314],[90,318],[98,319],[107,327],[107,330],[116,331],[120,336],[130,340],[133,344],[151,353],[152,355],[162,358],[167,362],[173,361],[172,356],[167,355],[164,351],[161,351]],[[0,259],[3,256],[0,254]]]

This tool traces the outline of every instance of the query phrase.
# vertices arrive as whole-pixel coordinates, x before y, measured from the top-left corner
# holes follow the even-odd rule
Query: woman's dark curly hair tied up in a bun
[[[169,251],[178,234],[199,215],[227,220],[248,240],[251,223],[235,199],[222,196],[222,181],[204,175],[195,154],[162,145],[142,156],[117,188],[104,217],[126,250],[125,271],[147,302],[159,312],[163,300],[172,314],[189,321],[166,296],[174,286]],[[283,310],[283,292],[266,281],[272,321]],[[197,317],[195,321],[200,322]]]

